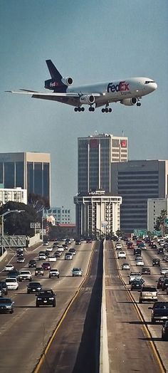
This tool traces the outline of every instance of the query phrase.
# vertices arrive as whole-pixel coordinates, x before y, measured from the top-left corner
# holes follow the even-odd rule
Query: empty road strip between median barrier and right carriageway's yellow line
[[[161,372],[142,322],[118,275],[110,241],[105,243],[105,288],[110,372]]]

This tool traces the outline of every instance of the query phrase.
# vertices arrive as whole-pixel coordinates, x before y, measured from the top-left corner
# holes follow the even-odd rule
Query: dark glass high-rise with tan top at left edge
[[[0,153],[0,184],[21,187],[51,201],[51,155],[38,152]]]

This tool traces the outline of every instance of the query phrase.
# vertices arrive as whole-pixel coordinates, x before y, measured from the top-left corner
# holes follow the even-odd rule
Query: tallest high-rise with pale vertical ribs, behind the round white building
[[[110,193],[110,164],[127,162],[127,137],[100,134],[78,138],[78,193]]]

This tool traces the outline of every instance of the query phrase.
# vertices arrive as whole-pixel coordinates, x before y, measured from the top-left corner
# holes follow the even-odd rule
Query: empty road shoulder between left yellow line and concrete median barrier
[[[103,246],[95,243],[88,278],[36,373],[98,373]]]

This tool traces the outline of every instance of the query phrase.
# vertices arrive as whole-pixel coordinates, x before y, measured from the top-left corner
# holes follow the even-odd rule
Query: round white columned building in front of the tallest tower
[[[90,191],[75,196],[74,203],[78,236],[116,233],[120,229],[120,196]]]

